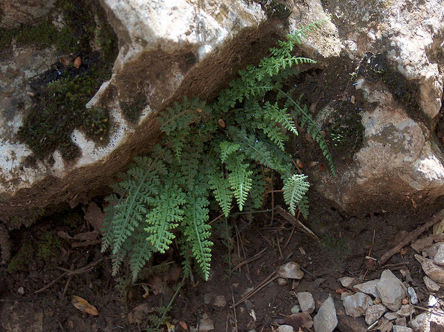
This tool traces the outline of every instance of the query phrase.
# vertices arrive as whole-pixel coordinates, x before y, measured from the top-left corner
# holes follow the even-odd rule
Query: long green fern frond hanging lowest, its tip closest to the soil
[[[213,243],[208,240],[211,235],[211,226],[206,223],[208,221],[209,210],[207,206],[209,202],[203,196],[205,195],[201,193],[196,197],[195,193],[192,192],[187,195],[187,204],[184,207],[184,236],[191,243],[194,259],[200,266],[206,281],[210,277],[211,247]]]

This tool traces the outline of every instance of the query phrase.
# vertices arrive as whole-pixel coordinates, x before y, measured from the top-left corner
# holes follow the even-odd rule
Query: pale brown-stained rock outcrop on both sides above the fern
[[[1,28],[22,23],[19,17],[30,10],[35,15],[24,23],[33,23],[53,6],[46,1],[38,10],[34,5],[13,10],[16,2],[1,3]],[[323,170],[311,172],[312,188],[343,209],[381,207],[387,200],[420,204],[444,193],[441,141],[434,132],[443,98],[440,1],[292,3],[288,26],[268,19],[254,1],[100,3],[119,39],[119,54],[110,80],[87,107],[109,111],[107,144],[92,141],[76,128],[69,135],[80,157],[66,160],[56,150],[49,158],[30,162],[33,152],[16,137],[32,104],[28,82],[60,54],[12,42],[10,53],[0,58],[3,221],[14,219],[20,225],[24,216],[32,219],[62,202],[75,205],[103,193],[114,175],[158,138],[155,112],[182,96],[214,98],[239,69],[257,63],[287,30],[330,15],[331,21],[298,50],[319,60],[318,78],[330,77],[323,81],[327,84],[317,85],[309,110],[327,128],[341,103],[355,105],[359,100],[355,106],[364,139],[352,161],[336,160],[338,177]],[[316,86],[316,77],[309,79]]]

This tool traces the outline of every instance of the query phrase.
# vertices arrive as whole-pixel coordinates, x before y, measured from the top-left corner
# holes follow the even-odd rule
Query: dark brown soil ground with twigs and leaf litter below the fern
[[[443,203],[436,202],[424,209],[403,207],[396,211],[392,207],[391,212],[387,213],[344,216],[316,194],[311,194],[310,200],[311,215],[305,224],[319,236],[319,242],[313,241],[298,228],[293,231],[293,225],[278,214],[272,218],[270,212],[257,213],[251,221],[238,216],[228,222],[232,244],[229,252],[223,244],[225,224],[215,222],[210,280],[205,282],[195,274],[194,283],[187,281],[180,290],[169,320],[176,326],[176,331],[185,331],[179,322],[185,322],[188,328],[196,326],[205,313],[214,321],[214,331],[273,331],[275,320],[289,315],[291,307],[297,303],[295,292],[308,290],[320,295],[321,299],[329,294],[339,298],[336,294],[336,289],[340,288],[339,277],[364,277],[364,274],[366,280],[379,277],[384,267],[366,263],[365,256],[370,248],[371,256],[379,258],[402,238],[402,231],[411,231],[429,220]],[[12,254],[17,254],[26,243],[31,243],[32,254],[23,270],[9,273],[6,266],[0,268],[0,331],[153,331],[146,329],[150,315],[147,311],[156,306],[165,306],[178,284],[174,280],[179,276],[173,271],[178,265],[162,265],[162,262],[174,261],[175,252],[172,250],[165,256],[156,257],[153,262],[173,268],[151,269],[154,271],[151,275],[145,273],[137,283],[127,285],[126,291],[119,290],[119,279],[111,277],[108,254],[101,254],[99,244],[73,248],[73,241],[60,239],[60,246],[51,249],[54,256],[39,258],[37,253],[47,232],[56,236],[58,231],[66,231],[74,236],[91,230],[82,218],[72,217],[73,213],[82,216],[81,209],[67,213],[71,216],[71,222],[62,222],[59,213],[44,218],[31,228],[12,232]],[[234,265],[262,250],[264,252],[255,261],[230,272]],[[229,253],[231,265],[228,263]],[[60,268],[76,270],[100,259],[103,260],[87,272],[57,279],[64,272]],[[234,320],[234,311],[229,308],[233,299],[234,302],[239,301],[247,288],[257,286],[279,265],[289,261],[300,263],[318,279],[305,274],[299,284],[279,286],[273,281],[248,302],[239,304]],[[398,264],[402,262],[405,263]],[[390,267],[398,277],[400,266],[409,270],[413,278],[412,286],[418,288],[420,299],[428,297],[422,283],[424,274],[419,263],[413,259],[410,247],[404,256],[397,254],[388,264],[398,264]],[[121,277],[125,277],[124,273]],[[320,278],[325,280],[319,284]],[[49,288],[34,293],[55,279],[56,282]],[[144,286],[150,290],[146,297]],[[24,288],[24,295],[17,292],[20,287]],[[155,292],[160,293],[155,295]],[[88,315],[74,308],[71,295],[87,299],[96,306],[99,315]],[[227,305],[222,308],[214,306],[216,295],[222,295]],[[144,304],[146,313],[134,310],[140,304]],[[252,309],[255,320],[250,315]],[[138,315],[139,322],[130,324],[132,317],[128,319],[128,315]],[[166,326],[162,327],[167,331]]]

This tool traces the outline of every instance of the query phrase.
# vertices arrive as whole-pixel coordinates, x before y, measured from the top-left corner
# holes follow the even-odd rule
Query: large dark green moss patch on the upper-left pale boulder
[[[21,32],[10,30],[2,44],[6,46],[14,37],[23,44],[53,45],[71,55],[31,82],[35,106],[28,110],[17,137],[28,144],[38,159],[50,156],[56,149],[65,159],[74,159],[80,155],[71,141],[74,129],[83,130],[90,139],[103,142],[108,138],[110,126],[108,110],[86,109],[85,104],[101,83],[110,78],[112,61],[117,56],[116,37],[105,24],[105,14],[99,4],[60,0],[58,8],[63,13],[63,28],[56,29],[48,20],[28,28],[34,37],[25,38]],[[99,45],[99,51],[93,49],[94,44]],[[76,59],[81,64],[74,67]]]

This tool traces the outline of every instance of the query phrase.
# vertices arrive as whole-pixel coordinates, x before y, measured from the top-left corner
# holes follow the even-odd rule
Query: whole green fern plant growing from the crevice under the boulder
[[[259,208],[264,168],[282,178],[289,211],[294,215],[299,209],[307,216],[307,176],[296,172],[284,151],[288,134],[298,134],[296,119],[318,142],[332,173],[334,167],[321,128],[300,98],[285,91],[284,82],[295,74],[295,65],[315,63],[291,52],[321,23],[288,35],[258,66],[239,71],[212,103],[184,98],[160,114],[164,143],[149,156],[135,158],[108,197],[102,250],[112,247],[114,274],[128,256],[137,278],[152,254],[164,253],[177,237],[185,262],[192,256],[208,279],[213,244],[209,200],[216,200],[225,216],[234,204],[239,210],[246,204]]]

